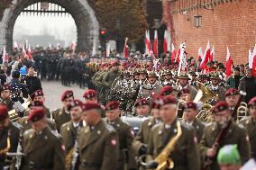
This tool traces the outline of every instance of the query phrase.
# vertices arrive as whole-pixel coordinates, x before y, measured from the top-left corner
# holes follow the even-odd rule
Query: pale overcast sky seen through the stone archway
[[[14,40],[25,35],[53,35],[57,40],[65,40],[66,46],[77,40],[77,27],[73,18],[64,16],[20,15],[14,25]]]

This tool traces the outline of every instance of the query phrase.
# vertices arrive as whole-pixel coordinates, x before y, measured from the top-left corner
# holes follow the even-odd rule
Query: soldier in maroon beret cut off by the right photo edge
[[[248,107],[251,116],[242,119],[241,123],[244,125],[249,135],[251,143],[251,157],[256,159],[256,97],[251,98],[248,103]]]

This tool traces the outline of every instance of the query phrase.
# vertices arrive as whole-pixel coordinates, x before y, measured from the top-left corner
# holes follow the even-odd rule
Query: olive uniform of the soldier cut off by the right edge
[[[256,159],[256,121],[250,117],[246,117],[241,121],[242,125],[247,130],[251,143],[251,157]]]

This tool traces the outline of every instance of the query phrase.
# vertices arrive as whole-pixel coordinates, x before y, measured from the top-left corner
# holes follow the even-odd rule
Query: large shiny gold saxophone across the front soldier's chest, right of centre
[[[152,162],[153,164],[147,164],[147,168],[154,168],[155,170],[165,170],[172,169],[174,167],[174,162],[169,158],[169,154],[175,149],[175,145],[178,142],[178,139],[182,135],[180,121],[177,121],[177,135],[169,140],[167,146],[160,152],[160,155],[156,157]]]

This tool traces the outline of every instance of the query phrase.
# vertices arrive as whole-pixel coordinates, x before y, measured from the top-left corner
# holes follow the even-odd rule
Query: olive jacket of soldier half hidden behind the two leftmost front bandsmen
[[[52,112],[52,118],[56,123],[56,129],[59,131],[62,124],[71,120],[70,113],[66,112],[64,107]]]

